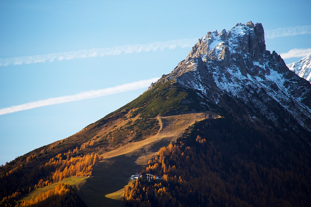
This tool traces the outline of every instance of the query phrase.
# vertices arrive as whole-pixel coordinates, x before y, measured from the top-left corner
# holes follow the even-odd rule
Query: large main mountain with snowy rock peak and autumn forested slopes
[[[260,23],[208,32],[135,100],[3,166],[0,205],[68,182],[81,206],[308,206],[310,97]]]

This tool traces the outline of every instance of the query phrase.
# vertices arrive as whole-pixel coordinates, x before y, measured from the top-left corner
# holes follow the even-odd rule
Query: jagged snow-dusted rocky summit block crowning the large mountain
[[[221,33],[217,30],[208,32],[193,46],[187,58],[200,56],[203,61],[218,60],[221,65],[229,67],[231,54],[242,52],[243,55],[249,54],[255,60],[259,60],[265,51],[262,24],[254,25],[249,21],[246,25],[242,23],[235,25],[228,32],[225,29]]]

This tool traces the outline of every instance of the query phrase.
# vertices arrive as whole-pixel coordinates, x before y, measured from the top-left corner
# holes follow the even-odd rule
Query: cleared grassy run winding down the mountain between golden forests
[[[209,113],[214,117],[220,117],[216,113]],[[104,153],[104,160],[95,165],[93,176],[88,180],[86,180],[88,177],[66,178],[61,182],[37,188],[23,196],[20,201],[30,200],[41,192],[54,189],[59,183],[69,183],[78,188],[80,196],[88,206],[102,204],[105,204],[104,206],[123,206],[121,199],[124,187],[132,183],[128,177],[140,172],[156,151],[167,146],[170,141],[179,137],[188,126],[204,117],[204,113],[158,117],[160,130],[156,135]]]

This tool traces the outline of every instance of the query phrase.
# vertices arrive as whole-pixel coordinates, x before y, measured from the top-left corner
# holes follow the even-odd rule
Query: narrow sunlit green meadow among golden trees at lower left
[[[29,194],[22,196],[21,199],[18,201],[30,200],[32,197],[38,196],[39,193],[46,192],[50,189],[54,189],[55,186],[58,185],[59,183],[69,183],[70,185],[76,187],[79,190],[80,187],[86,182],[87,178],[88,177],[66,178],[60,182],[53,183],[52,185],[37,188],[37,189],[31,191]]]

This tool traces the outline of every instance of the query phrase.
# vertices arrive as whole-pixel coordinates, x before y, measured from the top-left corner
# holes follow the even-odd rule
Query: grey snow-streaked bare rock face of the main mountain
[[[268,120],[280,130],[294,128],[298,133],[301,126],[311,131],[311,85],[288,70],[275,51],[266,50],[260,23],[250,21],[229,31],[208,32],[158,82],[168,80],[195,90],[206,100],[200,102],[206,109],[216,104],[258,125]],[[239,117],[239,108],[247,115]]]

